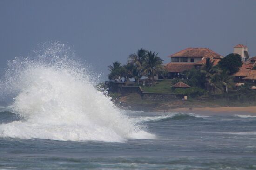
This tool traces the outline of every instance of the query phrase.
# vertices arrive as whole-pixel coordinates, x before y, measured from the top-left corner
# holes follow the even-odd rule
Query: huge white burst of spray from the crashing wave
[[[94,88],[85,67],[53,43],[37,57],[9,62],[1,90],[14,96],[9,107],[22,120],[0,125],[0,137],[123,142],[154,135],[115,108]]]

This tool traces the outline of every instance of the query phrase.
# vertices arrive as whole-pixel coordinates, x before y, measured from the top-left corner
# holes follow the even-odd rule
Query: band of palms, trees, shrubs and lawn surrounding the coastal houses
[[[250,84],[235,86],[232,75],[239,70],[242,64],[241,56],[231,53],[221,58],[216,65],[210,58],[207,58],[206,63],[201,67],[183,71],[182,78],[167,79],[168,72],[158,53],[139,49],[128,57],[126,64],[122,65],[115,61],[109,65],[108,78],[113,82],[134,82],[145,92],[188,94],[191,100],[204,98],[223,99],[227,102],[230,100],[240,103],[254,102],[256,91],[250,89]],[[161,80],[156,80],[156,75],[161,77]],[[177,82],[184,82],[190,88],[172,88]],[[119,94],[114,94],[114,96],[120,97]]]

